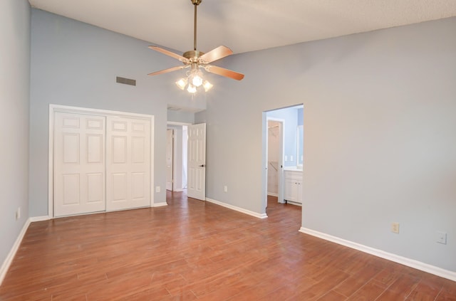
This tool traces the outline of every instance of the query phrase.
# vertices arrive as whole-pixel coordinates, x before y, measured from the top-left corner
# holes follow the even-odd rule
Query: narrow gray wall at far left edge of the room
[[[28,218],[30,5],[0,1],[0,263]],[[16,210],[21,218],[16,221]]]

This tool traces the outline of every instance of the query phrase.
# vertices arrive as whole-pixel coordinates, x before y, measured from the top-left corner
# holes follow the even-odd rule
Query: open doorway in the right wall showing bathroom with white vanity
[[[304,107],[296,105],[264,112],[264,199],[301,206],[304,147]]]

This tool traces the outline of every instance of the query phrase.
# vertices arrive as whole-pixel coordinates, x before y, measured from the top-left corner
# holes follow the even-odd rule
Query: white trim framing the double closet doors
[[[49,104],[49,127],[48,127],[48,218],[53,218],[53,130],[54,112],[81,113],[87,115],[105,115],[119,117],[133,117],[150,120],[150,206],[154,206],[154,116],[130,112],[91,109],[88,107],[71,107],[67,105]]]

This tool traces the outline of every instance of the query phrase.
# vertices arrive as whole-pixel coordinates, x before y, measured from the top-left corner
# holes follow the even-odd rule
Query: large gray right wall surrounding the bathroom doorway
[[[264,210],[262,112],[304,103],[302,226],[456,271],[455,31],[443,19],[224,59],[246,77],[207,102],[207,196]]]

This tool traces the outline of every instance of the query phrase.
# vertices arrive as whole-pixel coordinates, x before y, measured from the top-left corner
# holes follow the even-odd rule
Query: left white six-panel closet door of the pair
[[[105,211],[105,117],[54,115],[54,216]]]

